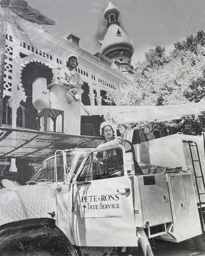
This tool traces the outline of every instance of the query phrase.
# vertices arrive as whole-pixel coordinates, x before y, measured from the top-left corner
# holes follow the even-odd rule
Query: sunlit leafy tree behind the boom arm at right
[[[116,105],[168,105],[199,102],[205,98],[205,32],[176,42],[169,55],[155,46],[138,62],[134,79],[110,94]],[[163,124],[170,131],[198,134],[203,118],[185,118]]]

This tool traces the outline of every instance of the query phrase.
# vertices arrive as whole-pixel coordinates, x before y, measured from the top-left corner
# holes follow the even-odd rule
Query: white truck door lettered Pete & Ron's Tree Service
[[[109,160],[109,168],[105,161],[110,152],[114,159]],[[131,180],[124,175],[123,154],[122,148],[101,151],[95,157],[91,153],[76,175],[71,214],[76,245],[138,244]]]

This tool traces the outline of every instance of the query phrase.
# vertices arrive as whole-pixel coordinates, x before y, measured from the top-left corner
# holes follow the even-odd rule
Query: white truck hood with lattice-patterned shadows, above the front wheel
[[[56,220],[54,184],[40,183],[0,189],[0,226],[29,218]],[[50,213],[50,214],[49,214]]]

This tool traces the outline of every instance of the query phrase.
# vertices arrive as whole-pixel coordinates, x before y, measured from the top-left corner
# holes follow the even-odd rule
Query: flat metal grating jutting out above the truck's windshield
[[[97,147],[98,137],[0,127],[0,158],[43,159],[57,149]]]

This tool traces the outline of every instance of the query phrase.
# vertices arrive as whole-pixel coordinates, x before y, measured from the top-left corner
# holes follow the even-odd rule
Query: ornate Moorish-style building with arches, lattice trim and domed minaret
[[[108,21],[107,33],[100,52],[95,55],[80,47],[77,36],[69,35],[64,40],[42,29],[40,25],[54,25],[54,21],[40,14],[26,1],[4,0],[0,1],[0,5],[1,125],[39,129],[36,122],[39,109],[34,104],[39,93],[36,79],[41,78],[45,88],[51,83],[58,84],[59,72],[66,66],[66,58],[71,53],[79,58],[76,71],[84,82],[84,105],[107,105],[107,92],[118,90],[122,83],[131,80],[127,71],[131,69],[134,46],[120,28],[119,10],[111,3],[104,12]],[[49,89],[42,93],[46,99]],[[75,108],[75,115],[69,106],[62,106],[62,109],[70,111],[71,117],[74,117],[72,120],[64,119],[66,134],[98,135],[102,117],[86,117],[81,114],[80,106]],[[41,122],[45,125],[43,119]],[[10,170],[15,169],[14,166],[8,162]]]

